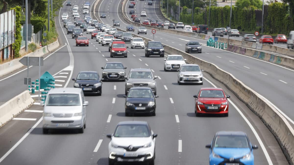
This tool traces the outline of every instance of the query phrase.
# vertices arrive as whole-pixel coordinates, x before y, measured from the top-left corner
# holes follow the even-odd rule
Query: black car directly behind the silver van
[[[78,76],[73,78],[74,87],[82,88],[84,93],[93,93],[101,96],[102,82],[96,71],[81,71]]]

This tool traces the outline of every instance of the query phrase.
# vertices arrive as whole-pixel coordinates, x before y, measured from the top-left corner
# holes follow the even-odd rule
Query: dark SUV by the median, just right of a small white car
[[[148,41],[145,47],[145,57],[149,57],[150,55],[160,55],[160,57],[164,57],[164,45],[162,45],[160,41]]]

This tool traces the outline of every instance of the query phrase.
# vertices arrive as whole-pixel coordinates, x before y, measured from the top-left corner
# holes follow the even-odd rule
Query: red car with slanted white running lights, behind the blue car
[[[201,88],[195,97],[195,114],[223,114],[229,115],[229,95],[221,88]]]

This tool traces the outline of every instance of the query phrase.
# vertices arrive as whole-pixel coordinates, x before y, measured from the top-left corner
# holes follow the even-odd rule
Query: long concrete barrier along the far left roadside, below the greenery
[[[35,50],[32,53],[24,55],[23,57],[27,57],[27,56],[29,56],[29,57],[41,57],[41,56],[45,55],[46,53],[52,52],[53,50],[55,50],[58,47],[59,47],[59,41],[57,40],[54,43],[51,43],[51,44],[49,44],[47,46],[39,48],[39,49]],[[9,61],[7,63],[1,64],[0,65],[0,77],[3,76],[3,75],[6,75],[8,73],[13,72],[14,70],[17,70],[17,69],[23,67],[24,65],[22,65],[19,62],[19,60],[21,58],[17,58],[17,59]]]

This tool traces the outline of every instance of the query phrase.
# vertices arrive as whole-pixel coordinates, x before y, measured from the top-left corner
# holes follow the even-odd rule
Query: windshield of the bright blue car
[[[249,148],[246,136],[220,135],[216,137],[213,147],[216,148]]]

